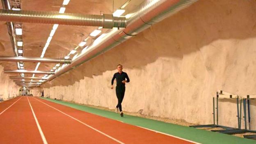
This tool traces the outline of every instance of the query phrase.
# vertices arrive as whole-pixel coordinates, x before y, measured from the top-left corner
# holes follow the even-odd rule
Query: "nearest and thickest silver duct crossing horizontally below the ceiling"
[[[0,21],[99,26],[103,28],[126,27],[125,17],[114,17],[112,14],[60,14],[58,12],[14,11],[9,9],[0,9]]]

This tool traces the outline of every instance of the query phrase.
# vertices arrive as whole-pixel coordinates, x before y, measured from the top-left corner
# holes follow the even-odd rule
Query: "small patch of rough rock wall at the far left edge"
[[[2,98],[7,99],[8,97],[17,96],[19,87],[3,71],[4,67],[0,65],[0,94],[3,94]]]

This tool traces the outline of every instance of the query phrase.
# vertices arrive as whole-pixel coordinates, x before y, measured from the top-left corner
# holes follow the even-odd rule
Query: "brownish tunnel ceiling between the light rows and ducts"
[[[66,6],[65,13],[82,14],[112,14],[128,0],[70,0]],[[144,0],[131,0],[125,7],[126,15],[135,9]],[[22,10],[32,11],[59,11],[63,0],[21,0]],[[2,9],[2,5],[0,5]],[[48,39],[53,25],[23,23],[23,56],[40,57],[43,47]],[[63,58],[70,53],[78,44],[84,40],[97,27],[59,25],[44,57]],[[104,30],[103,30],[104,32]],[[92,41],[89,39],[89,41]],[[14,56],[6,22],[0,22],[0,55]],[[16,62],[0,62],[5,69],[16,70]],[[37,63],[25,62],[25,70],[34,70]],[[39,71],[50,71],[55,64],[41,63]],[[19,76],[19,74],[10,74]],[[32,74],[25,74],[32,76]],[[42,77],[43,75],[35,75]]]

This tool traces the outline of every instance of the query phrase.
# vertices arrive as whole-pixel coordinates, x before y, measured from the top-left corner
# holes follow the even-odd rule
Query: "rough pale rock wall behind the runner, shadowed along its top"
[[[43,87],[51,98],[113,109],[120,63],[131,80],[124,111],[208,124],[216,89],[256,94],[255,55],[255,0],[199,0]],[[235,102],[219,104],[219,124],[237,126]]]

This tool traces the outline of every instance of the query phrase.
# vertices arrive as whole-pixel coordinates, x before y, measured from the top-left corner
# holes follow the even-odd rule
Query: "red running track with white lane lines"
[[[0,103],[0,144],[16,143],[195,144],[27,96]]]

